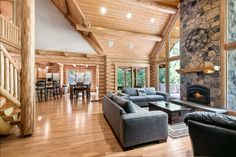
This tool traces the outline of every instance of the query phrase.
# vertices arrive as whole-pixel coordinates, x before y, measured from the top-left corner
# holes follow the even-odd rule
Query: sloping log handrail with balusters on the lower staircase
[[[0,95],[20,106],[20,67],[0,43]]]

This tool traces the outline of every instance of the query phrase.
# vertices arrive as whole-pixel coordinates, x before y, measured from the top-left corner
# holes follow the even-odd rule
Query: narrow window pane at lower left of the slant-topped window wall
[[[159,64],[159,91],[166,92],[166,65]]]

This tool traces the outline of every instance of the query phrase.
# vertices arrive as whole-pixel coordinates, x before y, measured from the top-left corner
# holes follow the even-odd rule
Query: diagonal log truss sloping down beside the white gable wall
[[[60,3],[58,0],[52,0],[52,2],[56,5],[56,7],[62,11],[62,8],[60,8],[60,5],[58,5],[58,3]],[[85,27],[89,27],[91,24],[90,22],[85,18],[82,10],[80,9],[80,7],[78,6],[76,0],[65,0],[64,1],[65,5],[66,5],[66,13],[64,13],[62,11],[62,13],[65,15],[65,17],[72,23],[73,26],[76,26],[77,20],[75,20],[75,18],[73,18],[73,13],[70,10],[70,5],[74,5],[76,7],[76,10],[78,13],[76,13],[77,16],[79,16],[82,20],[79,21],[79,23]],[[74,13],[75,14],[75,13]],[[98,53],[98,54],[104,54],[104,50],[101,46],[101,44],[99,43],[98,39],[96,38],[94,33],[87,33],[87,32],[83,32],[83,31],[79,31],[80,35],[87,40],[87,42],[90,44],[90,46]]]

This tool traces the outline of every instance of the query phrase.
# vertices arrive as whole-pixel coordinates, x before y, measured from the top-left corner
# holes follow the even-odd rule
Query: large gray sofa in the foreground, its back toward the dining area
[[[162,111],[148,111],[111,94],[103,97],[102,110],[124,149],[152,141],[163,142],[168,137],[168,116]]]

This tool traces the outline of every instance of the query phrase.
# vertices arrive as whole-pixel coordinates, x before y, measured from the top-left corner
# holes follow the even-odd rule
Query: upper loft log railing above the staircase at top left
[[[20,30],[19,28],[7,20],[0,14],[0,40],[5,44],[20,49]]]

